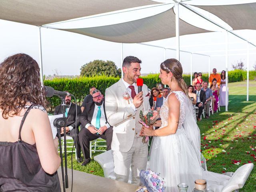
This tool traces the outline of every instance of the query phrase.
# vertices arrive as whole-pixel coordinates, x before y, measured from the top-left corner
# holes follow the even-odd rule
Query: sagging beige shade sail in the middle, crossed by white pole
[[[175,37],[173,8],[147,18],[92,28],[60,29],[122,43],[140,43]],[[180,35],[209,32],[180,20]]]

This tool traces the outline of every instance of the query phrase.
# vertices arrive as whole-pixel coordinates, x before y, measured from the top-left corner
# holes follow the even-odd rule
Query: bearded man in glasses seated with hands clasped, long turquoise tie
[[[106,140],[107,150],[111,149],[113,130],[107,122],[104,96],[99,90],[94,90],[92,98],[93,102],[86,104],[80,117],[80,122],[85,127],[79,133],[79,142],[84,154],[82,166],[86,166],[91,160],[90,141],[100,137]]]

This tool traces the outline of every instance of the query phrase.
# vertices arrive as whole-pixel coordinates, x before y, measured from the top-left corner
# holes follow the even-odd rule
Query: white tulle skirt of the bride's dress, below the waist
[[[149,168],[164,177],[166,192],[178,192],[180,183],[188,184],[191,192],[194,181],[202,178],[203,169],[183,127],[176,134],[154,137],[149,158]]]

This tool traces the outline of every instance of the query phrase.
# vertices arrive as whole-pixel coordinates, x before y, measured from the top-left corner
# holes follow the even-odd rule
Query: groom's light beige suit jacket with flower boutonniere
[[[150,109],[148,87],[143,84],[143,108]],[[132,98],[128,101],[123,98],[127,92],[122,78],[106,89],[105,92],[105,108],[108,123],[113,126],[113,138],[111,149],[128,152],[134,140],[135,124],[138,126],[139,119],[136,118],[132,108]],[[137,111],[136,113],[140,113]],[[139,125],[142,127],[142,125]],[[139,134],[139,133],[138,133]]]

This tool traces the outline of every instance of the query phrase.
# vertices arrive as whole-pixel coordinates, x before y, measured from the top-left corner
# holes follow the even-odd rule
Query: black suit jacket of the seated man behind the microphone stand
[[[77,121],[76,121],[76,105],[74,103],[71,103],[70,108],[68,110],[68,116],[67,116],[67,126],[72,126],[73,128],[78,128],[80,125],[79,118],[81,115],[81,107],[77,106]],[[54,110],[54,115],[62,114],[61,112],[61,105],[56,106]]]

